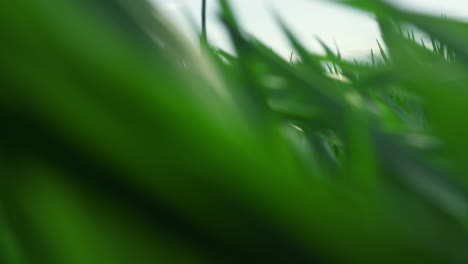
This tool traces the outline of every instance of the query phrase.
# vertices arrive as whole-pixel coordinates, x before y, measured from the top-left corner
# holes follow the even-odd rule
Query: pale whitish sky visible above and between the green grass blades
[[[200,30],[201,0],[151,0],[170,17],[188,39],[197,45]],[[232,46],[218,19],[218,0],[207,0],[208,38],[210,43],[232,52]],[[392,0],[395,4],[418,12],[468,19],[467,0]],[[316,37],[331,47],[338,46],[348,58],[368,54],[376,49],[380,33],[372,17],[327,0],[231,0],[245,31],[288,57],[292,48],[275,20],[278,13],[290,29],[311,50],[321,52]],[[195,25],[190,23],[195,21]]]

